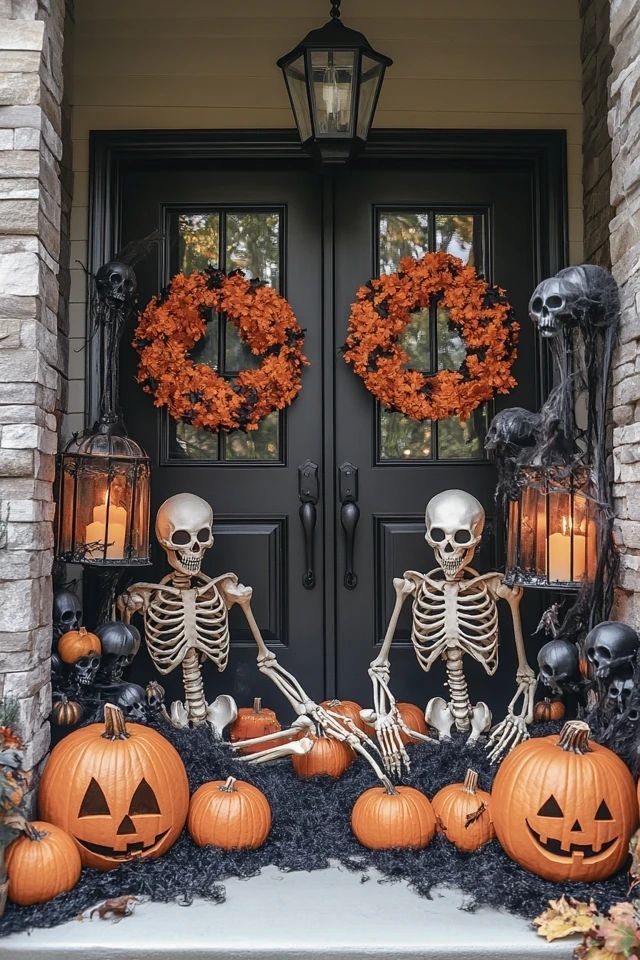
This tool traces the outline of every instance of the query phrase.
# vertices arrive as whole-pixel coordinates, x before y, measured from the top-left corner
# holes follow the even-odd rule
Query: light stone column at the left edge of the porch
[[[0,696],[49,746],[64,0],[0,0]]]

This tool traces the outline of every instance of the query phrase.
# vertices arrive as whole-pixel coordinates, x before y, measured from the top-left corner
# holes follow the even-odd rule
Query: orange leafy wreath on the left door
[[[188,353],[205,335],[205,313],[225,314],[251,352],[255,370],[220,376]],[[288,302],[272,287],[240,271],[177,274],[167,297],[154,297],[140,314],[133,346],[140,354],[137,381],[176,420],[207,430],[256,430],[301,388],[304,332]]]

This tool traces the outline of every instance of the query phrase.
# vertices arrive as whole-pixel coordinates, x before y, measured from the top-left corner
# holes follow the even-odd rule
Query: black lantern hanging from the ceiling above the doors
[[[323,163],[345,163],[364,147],[384,72],[393,63],[364,34],[331,19],[278,60],[302,146]]]

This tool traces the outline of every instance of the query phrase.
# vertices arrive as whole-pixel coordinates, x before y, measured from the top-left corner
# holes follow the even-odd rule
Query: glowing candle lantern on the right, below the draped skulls
[[[522,467],[509,503],[506,581],[577,590],[595,579],[596,504],[586,467]]]

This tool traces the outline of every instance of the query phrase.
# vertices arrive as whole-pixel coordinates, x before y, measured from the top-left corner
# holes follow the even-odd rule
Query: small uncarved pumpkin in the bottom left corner
[[[7,849],[9,899],[23,907],[45,903],[75,887],[82,864],[78,849],[64,830],[34,820],[33,836],[23,834]]]

